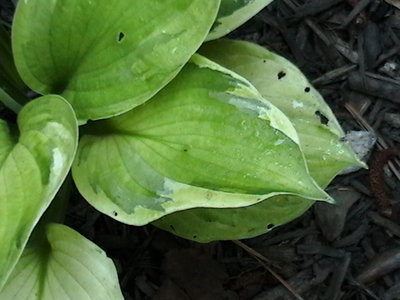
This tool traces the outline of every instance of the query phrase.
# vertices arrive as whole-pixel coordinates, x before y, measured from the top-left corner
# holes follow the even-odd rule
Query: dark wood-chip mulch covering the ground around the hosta
[[[291,60],[346,131],[378,138],[370,170],[330,185],[336,207],[317,204],[241,243],[198,244],[118,223],[77,194],[68,224],[113,258],[126,299],[400,299],[399,7],[399,0],[275,0],[231,34]]]

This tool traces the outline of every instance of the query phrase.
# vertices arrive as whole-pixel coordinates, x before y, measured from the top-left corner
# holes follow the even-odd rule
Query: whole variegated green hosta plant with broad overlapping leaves
[[[330,180],[363,164],[318,92],[265,48],[203,44],[269,2],[19,2],[12,53],[0,36],[18,115],[0,120],[0,299],[122,299],[111,260],[62,225],[71,184],[120,222],[202,242],[334,201]]]

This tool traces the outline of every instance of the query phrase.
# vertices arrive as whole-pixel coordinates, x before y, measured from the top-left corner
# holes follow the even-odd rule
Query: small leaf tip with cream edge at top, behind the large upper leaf
[[[227,35],[256,15],[273,0],[221,0],[221,6],[207,40]]]

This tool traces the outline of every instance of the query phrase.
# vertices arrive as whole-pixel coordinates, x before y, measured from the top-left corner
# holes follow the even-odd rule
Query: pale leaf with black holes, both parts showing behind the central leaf
[[[242,41],[210,42],[200,52],[250,80],[290,118],[310,173],[322,187],[347,166],[365,166],[341,140],[343,131],[328,105],[289,61]],[[270,224],[276,226],[295,219],[311,204],[312,201],[300,197],[277,196],[250,207],[177,212],[153,224],[199,242],[243,239],[268,232]]]

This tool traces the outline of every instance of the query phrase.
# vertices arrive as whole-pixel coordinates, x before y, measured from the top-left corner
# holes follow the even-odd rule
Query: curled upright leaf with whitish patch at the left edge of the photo
[[[77,130],[71,106],[59,96],[28,103],[18,129],[0,120],[0,288],[69,171]]]

